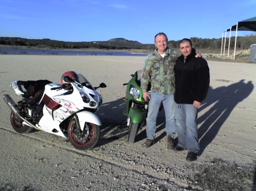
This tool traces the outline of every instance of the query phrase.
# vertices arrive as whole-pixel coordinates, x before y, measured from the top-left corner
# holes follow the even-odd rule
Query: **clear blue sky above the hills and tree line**
[[[212,39],[256,16],[255,9],[256,0],[0,0],[0,36],[74,42],[121,37],[147,44],[164,32],[169,40]]]

